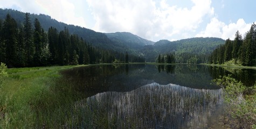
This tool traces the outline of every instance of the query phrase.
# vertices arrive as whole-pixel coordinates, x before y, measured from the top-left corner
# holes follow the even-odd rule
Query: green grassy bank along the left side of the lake
[[[73,92],[60,70],[77,66],[7,69],[0,87],[0,128],[62,128],[72,119]]]

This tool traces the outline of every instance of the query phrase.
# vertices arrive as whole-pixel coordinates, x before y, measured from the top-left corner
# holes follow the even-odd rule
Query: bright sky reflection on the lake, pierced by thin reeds
[[[222,102],[221,89],[151,83],[130,92],[96,94],[78,105],[100,112],[97,118],[107,117],[108,128],[112,123],[115,128],[209,128],[211,120],[218,119],[214,114]],[[92,121],[81,125],[95,127],[94,119],[87,119]]]

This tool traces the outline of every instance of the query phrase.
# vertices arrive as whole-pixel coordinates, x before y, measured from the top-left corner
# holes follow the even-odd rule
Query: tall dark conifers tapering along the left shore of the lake
[[[50,27],[47,32],[39,20],[33,24],[29,13],[17,23],[9,14],[0,19],[0,62],[10,67],[36,67],[50,65],[77,65],[88,63],[144,62],[144,58],[128,53],[107,51],[93,47],[68,28],[58,31]]]

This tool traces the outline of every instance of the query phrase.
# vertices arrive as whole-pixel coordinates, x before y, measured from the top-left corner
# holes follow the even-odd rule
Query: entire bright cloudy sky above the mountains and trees
[[[0,8],[45,14],[97,32],[144,39],[234,39],[255,22],[255,0],[0,0]]]

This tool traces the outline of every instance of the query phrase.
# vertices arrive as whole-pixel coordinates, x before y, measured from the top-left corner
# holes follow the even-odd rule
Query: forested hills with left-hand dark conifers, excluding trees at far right
[[[225,43],[220,38],[160,40],[154,43],[129,32],[100,33],[67,25],[46,15],[11,9],[0,9],[0,12],[0,61],[9,62],[9,67],[75,64],[75,57],[78,57],[79,64],[113,62],[115,59],[116,62],[124,62],[125,52],[129,53],[130,62],[159,62],[160,55],[165,63],[173,60],[178,63],[206,63],[211,52]],[[7,14],[10,18],[6,17]],[[14,43],[9,44],[8,41]],[[85,53],[88,53],[89,61]],[[174,59],[167,60],[171,55]],[[7,58],[11,56],[13,59]]]

